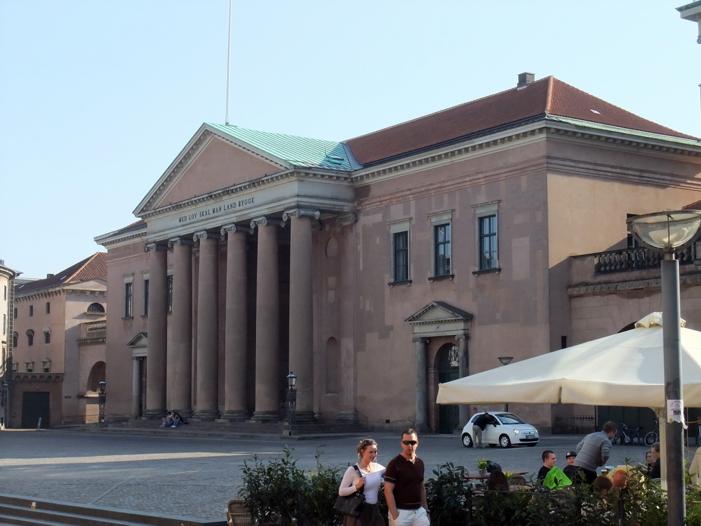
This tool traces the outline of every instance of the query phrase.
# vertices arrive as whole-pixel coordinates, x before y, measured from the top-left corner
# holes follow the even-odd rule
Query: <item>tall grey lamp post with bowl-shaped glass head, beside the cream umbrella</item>
[[[679,318],[679,261],[675,252],[693,243],[701,227],[701,210],[669,210],[636,215],[627,220],[632,234],[644,246],[662,252],[662,354],[665,368],[665,467],[667,469],[667,524],[681,525],[686,517],[681,330]]]

